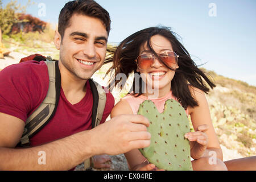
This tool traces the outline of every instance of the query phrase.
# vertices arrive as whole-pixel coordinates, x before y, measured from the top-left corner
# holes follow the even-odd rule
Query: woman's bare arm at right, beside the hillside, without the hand
[[[199,131],[199,126],[201,125],[207,125],[208,129],[204,131],[204,133],[208,137],[208,143],[207,143],[207,149],[204,151],[200,151],[200,144],[195,142],[191,142],[191,156],[196,156],[198,158],[198,155],[196,153],[201,152],[201,157],[203,156],[212,156],[214,152],[214,156],[216,156],[218,159],[223,160],[222,150],[220,147],[220,143],[218,142],[217,135],[214,131],[212,119],[210,118],[210,110],[209,105],[207,102],[207,98],[205,97],[205,93],[197,88],[190,88],[191,94],[195,98],[195,100],[198,102],[199,106],[196,107],[188,107],[189,114],[191,115],[191,121],[193,128],[195,131]],[[211,152],[213,151],[213,152]]]

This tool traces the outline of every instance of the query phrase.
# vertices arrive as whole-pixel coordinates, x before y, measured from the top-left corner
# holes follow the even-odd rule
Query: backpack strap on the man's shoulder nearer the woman
[[[90,88],[93,93],[93,110],[92,110],[92,128],[100,125],[105,105],[106,105],[106,93],[100,84],[89,79]],[[84,168],[88,169],[90,166],[93,167],[92,158],[86,159],[84,162]]]

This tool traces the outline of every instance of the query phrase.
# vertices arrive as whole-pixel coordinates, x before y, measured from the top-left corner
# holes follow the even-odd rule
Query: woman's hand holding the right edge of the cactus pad
[[[205,131],[207,131],[208,128],[208,125],[200,125],[195,132],[186,133],[184,136],[191,142],[191,157],[193,159],[201,158],[204,151],[207,149],[208,136]]]

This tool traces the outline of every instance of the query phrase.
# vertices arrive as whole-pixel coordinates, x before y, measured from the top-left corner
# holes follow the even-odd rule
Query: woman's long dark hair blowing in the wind
[[[115,80],[115,76],[118,73],[124,73],[126,77],[129,76],[129,73],[138,73],[137,72],[137,64],[134,60],[137,59],[139,55],[139,49],[144,43],[147,43],[147,47],[150,48],[150,51],[158,57],[159,61],[162,62],[167,68],[168,67],[156,54],[154,49],[151,46],[151,37],[154,35],[162,35],[164,38],[168,39],[172,45],[172,49],[177,55],[179,55],[178,65],[179,68],[175,71],[175,76],[171,82],[171,90],[172,94],[179,100],[181,105],[184,108],[187,106],[195,107],[198,106],[197,101],[192,97],[191,92],[189,90],[188,85],[194,86],[200,90],[203,90],[205,93],[209,92],[209,88],[207,87],[205,81],[213,89],[214,85],[209,78],[205,75],[203,71],[197,68],[197,65],[191,59],[188,51],[184,48],[184,46],[177,40],[174,32],[167,27],[150,27],[144,30],[138,31],[133,35],[130,35],[128,38],[123,40],[117,49],[114,52],[114,56],[108,60],[108,62],[113,61],[113,67],[109,69],[107,73],[110,72],[111,69],[115,70],[115,73],[110,81],[110,85],[119,85],[121,89],[122,85],[125,84],[126,80]],[[173,69],[172,69],[173,70]],[[139,74],[139,73],[138,73]],[[119,83],[119,84],[118,84]],[[142,94],[142,84],[139,84],[139,93],[135,93],[135,78],[133,81],[133,94],[134,96],[140,96]],[[111,89],[111,88],[110,88]]]

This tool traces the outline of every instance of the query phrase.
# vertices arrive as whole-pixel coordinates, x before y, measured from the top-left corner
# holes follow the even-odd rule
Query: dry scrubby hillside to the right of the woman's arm
[[[217,85],[207,98],[220,143],[242,156],[256,155],[256,87],[208,73]]]

